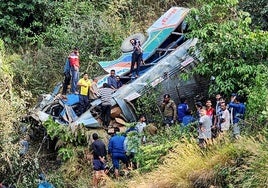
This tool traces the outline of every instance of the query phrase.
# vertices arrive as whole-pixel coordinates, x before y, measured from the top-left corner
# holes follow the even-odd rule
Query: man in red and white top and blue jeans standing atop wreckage
[[[73,52],[68,57],[70,66],[71,66],[71,76],[72,76],[72,83],[71,83],[71,92],[77,92],[77,82],[79,78],[79,52],[78,48],[74,48]]]

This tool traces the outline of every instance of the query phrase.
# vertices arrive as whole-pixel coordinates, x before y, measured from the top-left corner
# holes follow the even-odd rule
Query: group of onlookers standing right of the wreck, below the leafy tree
[[[239,138],[246,110],[241,99],[240,96],[232,93],[229,102],[227,102],[220,94],[217,94],[214,106],[211,100],[207,100],[205,104],[201,101],[195,102],[196,114],[193,115],[193,110],[189,109],[187,99],[181,98],[181,102],[176,105],[170,95],[165,94],[161,105],[164,115],[163,124],[169,127],[177,121],[181,126],[187,126],[197,122],[201,147],[205,147],[219,135],[226,135],[231,128],[233,136]]]

